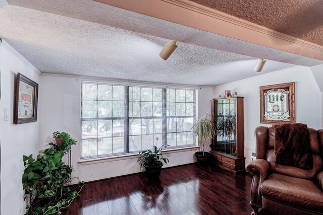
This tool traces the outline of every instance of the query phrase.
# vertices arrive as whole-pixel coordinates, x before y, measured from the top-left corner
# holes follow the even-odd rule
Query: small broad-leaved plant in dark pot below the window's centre
[[[158,137],[156,137],[158,140]],[[145,167],[147,176],[149,179],[158,179],[161,171],[161,167],[163,167],[163,162],[167,164],[169,162],[168,156],[163,156],[163,152],[161,152],[167,145],[163,145],[159,148],[157,146],[153,146],[151,150],[144,150],[139,152],[139,162],[141,166]]]

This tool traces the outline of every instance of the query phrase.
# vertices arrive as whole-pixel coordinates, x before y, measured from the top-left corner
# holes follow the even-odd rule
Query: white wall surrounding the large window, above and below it
[[[106,159],[95,162],[79,163],[80,160],[80,95],[81,81],[110,82],[109,80],[89,79],[82,77],[58,76],[43,74],[40,77],[39,88],[40,106],[40,141],[50,142],[52,132],[65,131],[77,140],[77,145],[72,147],[73,177],[81,181],[92,181],[126,175],[142,171],[137,162],[137,155],[126,158]],[[114,81],[115,82],[115,81]],[[118,83],[129,84],[130,81]],[[152,83],[134,83],[156,85]],[[159,85],[165,86],[165,85]],[[168,86],[172,86],[169,85]],[[185,86],[187,87],[187,86]],[[210,111],[210,100],[213,97],[213,88],[198,88],[198,114]],[[46,146],[43,145],[42,148]],[[195,162],[194,153],[199,149],[172,151],[169,153],[170,163],[167,166],[176,166]],[[74,180],[76,182],[77,180]]]

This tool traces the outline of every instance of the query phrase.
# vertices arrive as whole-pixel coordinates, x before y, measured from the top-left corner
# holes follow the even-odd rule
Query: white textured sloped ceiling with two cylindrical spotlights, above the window
[[[0,36],[43,73],[189,85],[259,75],[255,57],[182,42],[164,61],[158,53],[167,39],[65,16],[9,5],[0,20]],[[261,74],[292,66],[268,60]]]

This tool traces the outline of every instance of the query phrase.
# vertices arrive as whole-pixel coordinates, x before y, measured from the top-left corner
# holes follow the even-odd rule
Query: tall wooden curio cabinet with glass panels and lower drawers
[[[214,164],[236,173],[245,170],[243,97],[213,99],[217,136],[212,141]]]

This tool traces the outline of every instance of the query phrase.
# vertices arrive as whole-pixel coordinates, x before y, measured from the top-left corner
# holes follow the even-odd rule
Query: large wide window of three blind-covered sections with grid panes
[[[81,85],[81,159],[195,145],[195,90]]]

